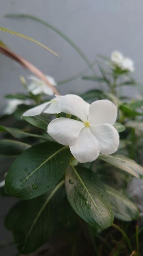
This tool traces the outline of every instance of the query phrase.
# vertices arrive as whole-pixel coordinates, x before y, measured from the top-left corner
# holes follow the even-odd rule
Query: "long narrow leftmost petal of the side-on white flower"
[[[45,103],[43,103],[43,104],[41,104],[41,105],[39,105],[35,108],[31,108],[31,109],[27,110],[26,112],[24,112],[23,116],[24,117],[34,117],[34,116],[40,115],[43,112],[43,110],[47,106],[49,106],[50,103],[51,102],[48,101],[48,102],[45,102]]]

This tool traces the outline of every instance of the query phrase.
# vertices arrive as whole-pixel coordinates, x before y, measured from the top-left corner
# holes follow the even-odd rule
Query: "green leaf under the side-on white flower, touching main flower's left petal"
[[[46,130],[47,131],[47,126],[49,124],[49,119],[48,119],[48,115],[47,114],[40,114],[40,115],[37,115],[35,117],[22,117],[22,119],[24,119],[25,121],[27,121],[28,123],[36,126],[36,127],[39,127],[43,130]]]

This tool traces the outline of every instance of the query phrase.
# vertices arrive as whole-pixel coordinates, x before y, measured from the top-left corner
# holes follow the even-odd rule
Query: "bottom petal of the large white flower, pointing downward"
[[[78,139],[69,148],[80,163],[92,162],[100,153],[98,141],[87,127],[81,130]]]

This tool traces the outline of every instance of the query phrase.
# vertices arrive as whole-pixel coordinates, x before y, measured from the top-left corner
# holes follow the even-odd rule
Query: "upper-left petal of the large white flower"
[[[62,112],[74,115],[83,122],[87,121],[89,112],[89,103],[84,101],[81,97],[74,94],[67,94],[65,96],[57,96],[59,99],[59,108]]]

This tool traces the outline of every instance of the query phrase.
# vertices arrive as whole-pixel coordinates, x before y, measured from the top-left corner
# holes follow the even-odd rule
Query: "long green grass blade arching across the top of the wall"
[[[6,14],[5,17],[7,17],[7,18],[10,18],[10,17],[11,18],[29,18],[31,20],[35,20],[37,22],[40,22],[41,24],[45,25],[46,27],[49,27],[50,29],[55,31],[59,36],[63,37],[76,50],[76,52],[78,52],[78,54],[82,57],[82,59],[90,67],[90,70],[93,72],[93,74],[95,74],[90,61],[87,59],[85,54],[80,50],[80,48],[69,37],[67,37],[61,30],[59,30],[58,28],[54,27],[49,22],[41,20],[40,18],[38,18],[36,16],[30,15],[30,14],[24,14],[24,13],[19,13],[19,14],[9,13],[9,14]]]

